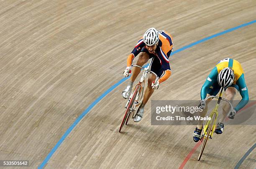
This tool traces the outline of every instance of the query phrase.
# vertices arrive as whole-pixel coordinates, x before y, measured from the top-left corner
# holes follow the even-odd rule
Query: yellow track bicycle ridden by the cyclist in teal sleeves
[[[217,122],[217,119],[218,119],[218,108],[220,106],[220,101],[221,100],[224,100],[226,102],[228,102],[230,104],[230,110],[233,111],[233,106],[232,104],[230,103],[230,101],[228,101],[227,99],[225,98],[222,98],[222,91],[223,91],[223,88],[221,88],[221,91],[220,91],[220,94],[219,96],[209,96],[207,98],[205,98],[205,101],[207,101],[208,98],[218,98],[218,101],[215,105],[215,108],[212,110],[211,114],[210,114],[210,119],[208,119],[206,121],[206,124],[205,124],[205,127],[203,129],[203,132],[202,132],[202,136],[201,136],[201,142],[203,141],[203,144],[202,144],[202,148],[200,150],[200,153],[199,153],[199,156],[198,156],[198,161],[200,160],[201,156],[202,156],[202,153],[205,149],[205,145],[206,145],[206,142],[207,140],[210,138],[212,139],[212,134],[214,133],[215,131],[215,127],[216,127],[216,122]]]

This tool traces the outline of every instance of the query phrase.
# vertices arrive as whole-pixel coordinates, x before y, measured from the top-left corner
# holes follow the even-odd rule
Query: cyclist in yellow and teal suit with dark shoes
[[[225,58],[219,61],[212,69],[201,89],[202,101],[200,102],[200,106],[204,108],[204,111],[202,112],[203,117],[207,113],[207,103],[212,100],[209,99],[205,102],[204,99],[208,96],[216,96],[221,87],[224,87],[226,98],[228,100],[233,100],[238,91],[242,99],[234,108],[233,112],[229,111],[230,106],[228,104],[223,106],[223,117],[215,128],[216,134],[222,134],[224,129],[224,120],[228,113],[230,112],[229,118],[234,119],[236,112],[241,110],[241,108],[243,108],[249,101],[248,88],[246,86],[243,68],[238,61],[231,58]],[[200,140],[201,132],[202,121],[198,121],[197,128],[193,134],[195,142]]]

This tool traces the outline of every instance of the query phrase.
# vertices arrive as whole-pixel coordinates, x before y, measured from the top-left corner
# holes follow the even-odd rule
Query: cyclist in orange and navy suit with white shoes
[[[143,66],[147,63],[148,59],[154,58],[154,61],[151,65],[151,71],[159,76],[159,80],[156,85],[154,85],[154,80],[156,79],[154,74],[150,74],[148,77],[148,86],[146,88],[143,101],[138,108],[138,111],[134,117],[134,121],[141,121],[144,106],[147,103],[150,96],[153,94],[154,89],[158,89],[159,84],[166,81],[167,78],[171,76],[171,68],[169,65],[169,56],[173,48],[172,36],[164,30],[156,30],[155,28],[148,29],[143,38],[141,38],[136,44],[135,48],[127,58],[127,67],[123,72],[125,77],[128,77],[131,74],[131,71],[128,72],[129,67],[131,66],[133,59],[139,55],[136,65]],[[131,75],[128,86],[122,93],[123,98],[129,98],[131,90],[133,87],[133,82],[140,73],[141,68],[133,67],[133,73]]]

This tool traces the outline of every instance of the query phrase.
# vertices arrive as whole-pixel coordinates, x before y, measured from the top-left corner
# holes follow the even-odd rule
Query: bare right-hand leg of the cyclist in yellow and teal
[[[232,102],[236,96],[236,93],[238,93],[238,88],[232,84],[230,87],[226,88],[225,98]],[[230,112],[230,105],[227,102],[225,102],[222,108],[223,116],[220,118],[220,121],[219,121],[220,123],[224,124],[225,118],[227,117],[229,112]]]

